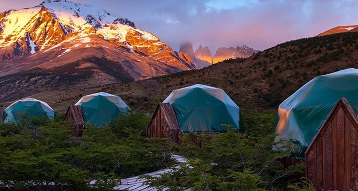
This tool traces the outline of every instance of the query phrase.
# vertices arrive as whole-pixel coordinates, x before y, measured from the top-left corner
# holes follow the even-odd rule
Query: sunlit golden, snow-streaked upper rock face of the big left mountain
[[[44,1],[21,10],[0,13],[0,60],[46,51],[78,34],[94,34],[178,70],[197,69],[188,55],[179,54],[160,39],[124,18],[97,7],[68,1]],[[78,47],[78,46],[76,46]]]

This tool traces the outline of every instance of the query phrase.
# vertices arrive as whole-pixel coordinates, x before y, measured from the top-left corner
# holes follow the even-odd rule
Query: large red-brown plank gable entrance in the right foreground
[[[316,190],[358,189],[358,117],[344,98],[333,107],[305,152]]]

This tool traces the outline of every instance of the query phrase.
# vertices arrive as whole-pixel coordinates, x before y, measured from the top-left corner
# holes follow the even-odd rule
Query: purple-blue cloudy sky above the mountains
[[[358,24],[357,0],[72,0],[102,7],[178,50],[247,45],[264,50],[335,26]],[[0,0],[0,12],[42,0]]]

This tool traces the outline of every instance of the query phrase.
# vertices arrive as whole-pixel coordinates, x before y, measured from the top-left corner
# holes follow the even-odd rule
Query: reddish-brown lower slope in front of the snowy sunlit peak
[[[2,64],[0,70],[7,74],[0,77],[4,92],[0,99],[9,100],[38,92],[91,88],[180,71],[96,35],[74,36],[41,54]]]

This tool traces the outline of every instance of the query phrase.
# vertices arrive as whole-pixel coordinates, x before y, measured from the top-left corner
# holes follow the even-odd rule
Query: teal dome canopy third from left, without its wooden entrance
[[[240,107],[222,89],[196,84],[174,90],[163,102],[173,106],[181,132],[225,132],[223,124],[244,131]]]

